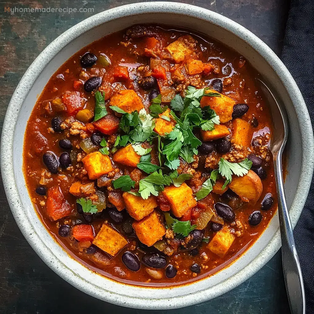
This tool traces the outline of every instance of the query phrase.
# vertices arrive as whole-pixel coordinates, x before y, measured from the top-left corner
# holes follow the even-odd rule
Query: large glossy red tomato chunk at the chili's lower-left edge
[[[60,187],[50,187],[46,201],[46,213],[54,221],[71,214],[71,207],[64,198]]]

